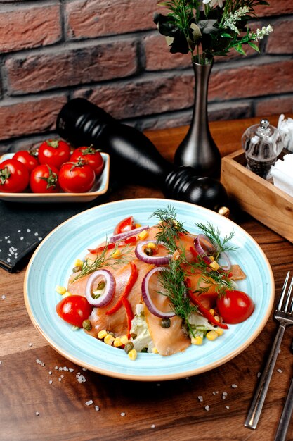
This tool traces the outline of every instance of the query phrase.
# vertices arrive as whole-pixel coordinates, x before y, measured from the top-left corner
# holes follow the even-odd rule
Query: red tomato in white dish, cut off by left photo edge
[[[6,159],[0,163],[0,192],[19,193],[27,188],[30,174],[16,159]]]

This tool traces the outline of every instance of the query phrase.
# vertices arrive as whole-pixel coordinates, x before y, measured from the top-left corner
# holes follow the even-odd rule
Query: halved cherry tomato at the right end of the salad
[[[235,324],[245,321],[254,311],[254,302],[243,291],[226,291],[226,294],[216,301],[223,321]]]

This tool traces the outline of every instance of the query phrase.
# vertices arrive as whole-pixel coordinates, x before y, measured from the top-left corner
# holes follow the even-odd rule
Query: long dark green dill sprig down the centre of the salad
[[[181,317],[188,331],[193,334],[193,328],[188,318],[197,311],[197,306],[190,303],[185,287],[185,271],[181,267],[181,259],[171,259],[164,271],[159,271],[159,283],[162,286],[160,294],[166,295],[171,301],[171,311]]]

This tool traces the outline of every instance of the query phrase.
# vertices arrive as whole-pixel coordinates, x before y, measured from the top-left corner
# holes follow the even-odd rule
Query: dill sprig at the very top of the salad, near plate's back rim
[[[181,221],[177,221],[176,211],[172,206],[154,211],[150,217],[153,216],[157,216],[160,221],[158,224],[159,232],[156,235],[157,242],[164,242],[166,247],[174,253],[177,249],[176,240],[179,239],[181,234],[187,234],[188,231],[185,230]]]

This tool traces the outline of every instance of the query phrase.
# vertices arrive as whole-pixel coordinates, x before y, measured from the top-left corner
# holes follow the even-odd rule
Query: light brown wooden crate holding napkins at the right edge
[[[236,206],[293,242],[293,197],[248,170],[243,150],[222,159],[221,182]]]

